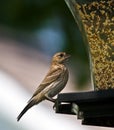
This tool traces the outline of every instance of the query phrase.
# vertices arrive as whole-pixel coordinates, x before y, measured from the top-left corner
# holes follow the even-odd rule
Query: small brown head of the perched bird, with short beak
[[[58,52],[52,58],[52,63],[63,64],[69,59],[70,55],[65,52]]]

